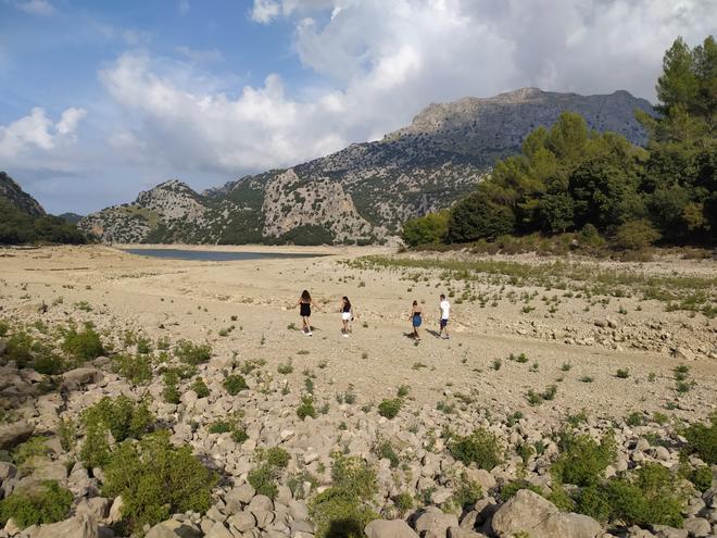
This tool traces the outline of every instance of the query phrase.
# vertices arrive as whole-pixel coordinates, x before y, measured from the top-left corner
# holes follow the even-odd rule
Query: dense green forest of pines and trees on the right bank
[[[526,137],[519,154],[450,211],[404,224],[408,246],[567,236],[640,250],[717,237],[717,45],[678,38],[663,60],[656,115],[636,112],[646,147],[591,132],[576,113]]]

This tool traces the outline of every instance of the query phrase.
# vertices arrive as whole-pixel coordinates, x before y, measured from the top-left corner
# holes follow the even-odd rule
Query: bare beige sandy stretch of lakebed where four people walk
[[[136,247],[136,246],[133,246]],[[174,248],[186,248],[177,247]],[[188,247],[198,248],[198,247]],[[201,250],[211,247],[199,247]],[[626,318],[640,324],[664,322],[676,338],[705,353],[690,361],[695,386],[677,396],[671,370],[680,363],[666,351],[639,351],[628,346],[565,343],[562,336],[545,339],[521,327],[546,327],[561,331],[588,330],[595,311],[583,313],[584,302],[565,300],[558,314],[538,309],[520,314],[520,303],[500,301],[495,308],[454,303],[451,340],[439,339],[438,296],[442,284],[429,276],[419,283],[406,281],[400,271],[360,271],[344,261],[369,253],[390,253],[382,248],[273,248],[236,247],[217,250],[313,252],[322,258],[236,262],[187,262],[126,254],[116,248],[54,247],[29,250],[0,250],[0,317],[32,322],[37,306],[49,305],[48,322],[93,321],[98,327],[143,331],[152,339],[162,336],[211,341],[213,364],[222,367],[239,360],[265,360],[268,372],[291,361],[289,376],[301,384],[306,370],[317,374],[316,393],[332,400],[350,385],[362,401],[377,402],[393,397],[397,387],[410,385],[418,403],[435,405],[456,395],[468,396],[476,404],[519,410],[526,415],[565,415],[582,409],[599,416],[625,416],[632,411],[667,412],[685,418],[702,417],[717,405],[717,360],[709,358],[717,341],[717,324],[699,314],[664,312],[650,301],[636,312],[629,299]],[[682,263],[682,262],[681,262]],[[639,271],[717,274],[714,261],[683,262],[681,265],[637,264]],[[312,291],[322,308],[312,316],[313,337],[293,329],[301,326],[294,304],[302,289]],[[411,288],[411,291],[408,291]],[[486,291],[495,291],[485,286]],[[520,293],[526,288],[516,288]],[[554,290],[540,290],[553,295]],[[342,338],[339,302],[347,295],[354,304],[353,334]],[[62,302],[58,298],[62,297]],[[416,345],[410,334],[411,301],[423,303],[426,323],[423,340]],[[74,305],[87,301],[91,312]],[[653,304],[654,303],[654,304]],[[617,302],[608,310],[614,314]],[[231,321],[236,316],[236,321]],[[627,323],[622,322],[621,323]],[[228,336],[223,328],[236,326]],[[525,334],[521,334],[525,333]],[[507,360],[511,353],[526,353],[527,363]],[[500,370],[493,370],[501,359]],[[537,366],[533,364],[537,363]],[[566,363],[569,371],[563,371]],[[532,366],[532,367],[531,367]],[[628,368],[627,379],[617,368]],[[531,372],[531,370],[533,370]],[[649,374],[654,373],[654,380]],[[592,383],[580,380],[584,376]],[[530,406],[526,392],[557,386],[554,401]],[[668,403],[672,402],[672,403]]]

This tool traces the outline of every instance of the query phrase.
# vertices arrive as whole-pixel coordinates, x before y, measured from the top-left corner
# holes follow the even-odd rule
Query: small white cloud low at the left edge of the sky
[[[0,125],[0,158],[12,163],[24,162],[38,153],[52,153],[60,146],[74,141],[77,124],[84,115],[83,109],[71,108],[53,124],[45,110],[37,107],[10,125]]]

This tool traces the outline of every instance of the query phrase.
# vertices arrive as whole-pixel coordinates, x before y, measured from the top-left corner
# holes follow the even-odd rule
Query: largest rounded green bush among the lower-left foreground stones
[[[216,476],[191,453],[176,448],[167,430],[139,441],[126,440],[104,467],[105,497],[122,496],[122,517],[131,531],[180,512],[204,512],[212,502]]]

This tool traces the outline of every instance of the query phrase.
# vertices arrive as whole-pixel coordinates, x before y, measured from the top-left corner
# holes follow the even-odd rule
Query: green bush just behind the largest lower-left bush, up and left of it
[[[140,438],[154,424],[154,416],[143,401],[134,402],[126,396],[104,397],[85,410],[81,423],[85,441],[79,455],[89,467],[101,467],[110,460],[108,434],[112,434],[115,442]]]

